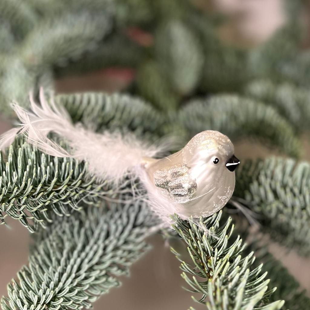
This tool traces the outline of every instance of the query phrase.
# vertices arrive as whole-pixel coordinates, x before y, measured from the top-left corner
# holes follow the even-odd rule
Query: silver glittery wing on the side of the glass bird
[[[177,203],[185,203],[193,198],[197,190],[196,179],[188,173],[185,165],[171,166],[154,172],[154,183],[164,195]]]

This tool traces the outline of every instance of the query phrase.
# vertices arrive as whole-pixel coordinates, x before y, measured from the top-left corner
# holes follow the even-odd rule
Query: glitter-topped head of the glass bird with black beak
[[[233,172],[240,163],[234,155],[230,139],[213,130],[195,135],[183,148],[183,157],[192,169],[206,168],[209,172],[218,171],[220,174]]]

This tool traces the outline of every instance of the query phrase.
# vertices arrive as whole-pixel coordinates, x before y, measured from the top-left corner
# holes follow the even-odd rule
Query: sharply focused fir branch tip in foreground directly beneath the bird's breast
[[[268,287],[269,280],[265,279],[267,273],[262,273],[262,265],[253,268],[253,252],[243,255],[245,245],[240,237],[231,240],[234,229],[231,218],[220,226],[221,216],[222,211],[201,220],[199,225],[174,217],[174,228],[188,245],[193,261],[193,265],[185,263],[172,249],[181,261],[182,277],[191,287],[190,291],[200,293],[199,302],[206,303],[209,310],[281,309],[283,300],[268,302],[276,289]],[[209,233],[205,233],[206,229]]]

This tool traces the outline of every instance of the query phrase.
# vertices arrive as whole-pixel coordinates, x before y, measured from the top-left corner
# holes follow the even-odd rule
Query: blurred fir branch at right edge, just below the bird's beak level
[[[310,165],[293,159],[248,160],[237,169],[234,196],[258,214],[265,232],[288,248],[310,253]]]

